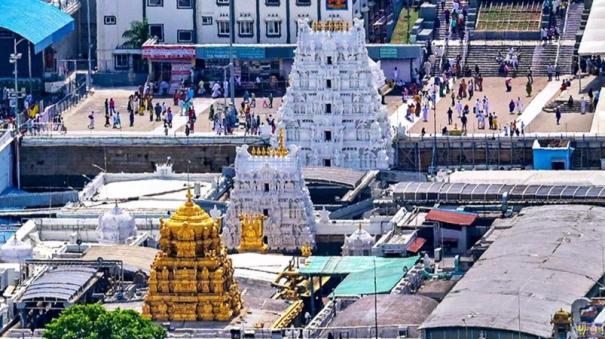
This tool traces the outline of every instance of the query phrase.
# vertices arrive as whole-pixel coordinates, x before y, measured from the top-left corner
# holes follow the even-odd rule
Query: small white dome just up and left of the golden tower
[[[128,238],[136,235],[134,218],[125,210],[116,206],[99,217],[97,241],[102,244],[125,244]]]

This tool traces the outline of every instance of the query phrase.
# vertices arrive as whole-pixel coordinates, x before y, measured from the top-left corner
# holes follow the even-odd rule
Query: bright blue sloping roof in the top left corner
[[[69,14],[40,0],[2,0],[0,13],[0,27],[30,41],[35,53],[75,30]]]

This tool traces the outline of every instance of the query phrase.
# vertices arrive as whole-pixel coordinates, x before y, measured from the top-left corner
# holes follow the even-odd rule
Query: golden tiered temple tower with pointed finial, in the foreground
[[[228,321],[242,308],[220,221],[192,201],[160,220],[160,252],[149,273],[143,315],[155,321]]]

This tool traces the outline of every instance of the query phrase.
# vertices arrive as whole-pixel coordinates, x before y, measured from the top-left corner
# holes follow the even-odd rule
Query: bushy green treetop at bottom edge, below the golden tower
[[[163,339],[166,330],[133,310],[99,304],[71,306],[46,325],[46,339]]]

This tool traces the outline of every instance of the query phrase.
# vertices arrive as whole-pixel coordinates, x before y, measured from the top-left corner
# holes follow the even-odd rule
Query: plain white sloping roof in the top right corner
[[[605,54],[605,0],[593,0],[578,48],[579,55]]]

